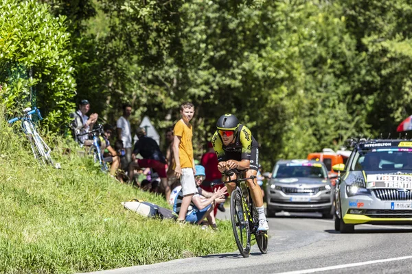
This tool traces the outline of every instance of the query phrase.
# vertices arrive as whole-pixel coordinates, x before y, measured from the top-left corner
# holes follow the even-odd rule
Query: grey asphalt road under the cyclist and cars
[[[268,221],[266,255],[255,246],[249,258],[235,251],[98,273],[412,273],[412,226],[358,225],[339,234],[317,214]]]

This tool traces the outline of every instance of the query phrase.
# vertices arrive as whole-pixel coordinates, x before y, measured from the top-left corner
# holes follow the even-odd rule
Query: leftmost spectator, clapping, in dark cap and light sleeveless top
[[[90,147],[93,141],[89,140],[89,135],[86,133],[93,129],[99,115],[97,113],[91,114],[90,117],[86,115],[90,110],[90,103],[86,99],[80,101],[78,107],[79,109],[71,115],[74,118],[72,127],[75,133],[73,135],[80,145]],[[77,134],[80,134],[80,136],[76,136]]]

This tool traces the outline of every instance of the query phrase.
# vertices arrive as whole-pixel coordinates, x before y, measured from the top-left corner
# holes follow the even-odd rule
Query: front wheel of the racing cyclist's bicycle
[[[246,217],[247,212],[243,205],[242,194],[239,188],[231,192],[230,215],[236,245],[244,258],[249,257],[251,251],[251,230]]]

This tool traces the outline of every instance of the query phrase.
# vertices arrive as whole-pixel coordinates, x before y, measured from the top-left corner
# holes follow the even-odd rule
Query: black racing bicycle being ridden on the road
[[[256,176],[245,178],[246,171],[232,169],[225,171],[223,175],[231,177],[236,174],[236,179],[229,180],[227,183],[236,183],[236,188],[231,192],[230,197],[230,216],[235,236],[236,245],[243,257],[249,257],[251,251],[251,236],[255,236],[260,252],[266,254],[268,251],[267,232],[258,232],[259,215],[251,197],[251,191],[247,186],[247,180],[255,179]],[[216,184],[212,184],[212,188]]]

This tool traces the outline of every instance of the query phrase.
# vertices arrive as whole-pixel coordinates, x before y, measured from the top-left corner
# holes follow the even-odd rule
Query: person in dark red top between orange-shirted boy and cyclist
[[[214,189],[211,188],[211,182],[214,184],[221,184],[222,183],[222,173],[220,173],[218,169],[218,156],[213,149],[213,145],[211,142],[207,142],[207,152],[202,155],[201,165],[205,166],[205,173],[206,178],[205,181],[202,183],[201,188],[207,190],[209,192],[214,192],[214,189],[218,188],[219,186],[214,186]],[[219,208],[220,211],[225,212],[225,207],[223,206],[224,203],[219,203],[218,206],[214,209],[214,214]]]

